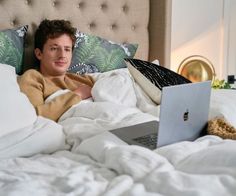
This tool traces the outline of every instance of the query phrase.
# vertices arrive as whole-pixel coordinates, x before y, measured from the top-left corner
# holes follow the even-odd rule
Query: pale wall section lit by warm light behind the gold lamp
[[[202,55],[217,78],[225,77],[223,18],[224,0],[172,0],[170,68],[177,71],[186,57]]]

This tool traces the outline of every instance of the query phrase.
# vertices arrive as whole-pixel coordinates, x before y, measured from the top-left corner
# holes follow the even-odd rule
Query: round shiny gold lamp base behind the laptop
[[[212,63],[203,56],[194,55],[184,59],[177,71],[191,82],[214,80],[215,69]]]

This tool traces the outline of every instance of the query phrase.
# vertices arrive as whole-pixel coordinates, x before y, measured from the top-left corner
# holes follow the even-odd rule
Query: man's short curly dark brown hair
[[[71,26],[71,23],[67,20],[43,20],[38,29],[35,32],[34,48],[43,50],[43,46],[48,39],[58,38],[59,36],[66,34],[72,40],[72,49],[75,45],[75,32],[76,29]]]

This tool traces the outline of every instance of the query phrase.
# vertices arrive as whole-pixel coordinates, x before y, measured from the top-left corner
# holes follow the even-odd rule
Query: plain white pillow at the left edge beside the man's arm
[[[29,126],[37,115],[25,94],[20,92],[15,68],[0,64],[0,137]]]

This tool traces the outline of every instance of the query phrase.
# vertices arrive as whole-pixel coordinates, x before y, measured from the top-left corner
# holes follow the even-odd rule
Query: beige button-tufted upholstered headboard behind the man
[[[135,55],[169,63],[171,0],[0,0],[0,30],[29,25],[24,65],[33,66],[33,35],[45,18],[70,20],[80,31],[138,43]]]

